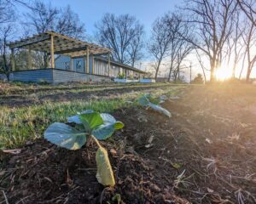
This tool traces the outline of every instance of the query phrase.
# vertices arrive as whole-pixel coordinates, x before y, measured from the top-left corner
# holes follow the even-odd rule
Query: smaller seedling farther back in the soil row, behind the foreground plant
[[[166,109],[162,108],[159,104],[161,102],[161,99],[157,100],[154,99],[150,94],[145,94],[137,99],[139,105],[142,105],[146,109],[151,108],[154,111],[158,111],[161,114],[164,114],[165,116],[171,117],[172,114],[167,111]]]

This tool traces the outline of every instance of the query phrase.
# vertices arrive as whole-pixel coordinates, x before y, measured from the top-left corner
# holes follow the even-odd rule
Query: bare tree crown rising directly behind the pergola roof
[[[67,8],[55,8],[51,3],[46,4],[36,0],[25,16],[24,25],[27,26],[27,30],[33,33],[56,31],[69,37],[84,38],[84,24],[80,22],[78,14],[75,14],[69,6]],[[46,67],[49,60],[46,53],[43,54],[43,59],[44,67]]]

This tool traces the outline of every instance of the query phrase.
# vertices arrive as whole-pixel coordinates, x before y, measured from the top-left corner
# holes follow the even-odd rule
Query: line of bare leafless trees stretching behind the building
[[[24,14],[18,14],[19,6],[26,8]],[[22,36],[17,25],[22,27]],[[249,82],[256,62],[256,0],[183,0],[176,11],[154,20],[148,40],[143,24],[130,14],[103,14],[95,24],[95,36],[89,37],[69,6],[0,0],[0,71],[10,71],[8,42],[49,30],[111,48],[113,60],[120,63],[135,66],[150,59],[154,78],[165,65],[169,81],[180,79],[191,55],[196,56],[205,81],[210,73],[211,82],[224,63],[231,65],[233,78],[246,73]],[[15,55],[16,63],[26,66],[26,50]],[[32,57],[37,67],[46,67],[47,54],[33,52]]]

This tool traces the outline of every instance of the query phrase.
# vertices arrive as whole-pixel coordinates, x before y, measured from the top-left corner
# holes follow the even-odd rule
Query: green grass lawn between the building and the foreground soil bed
[[[1,85],[1,84],[0,84]],[[6,85],[6,84],[3,84]],[[142,91],[134,88],[145,88]],[[153,87],[153,88],[152,88]],[[98,96],[99,89],[102,92],[113,88],[111,94],[104,97]],[[129,88],[129,93],[115,94],[115,90]],[[150,88],[147,89],[147,88]],[[134,101],[142,94],[150,92],[155,96],[165,94],[167,96],[177,95],[184,86],[167,85],[167,84],[105,84],[105,85],[88,85],[88,84],[74,84],[74,85],[34,85],[34,84],[8,84],[1,90],[2,96],[9,96],[12,94],[20,94],[20,97],[29,98],[31,92],[38,97],[45,94],[65,94],[75,92],[79,93],[87,90],[93,94],[94,97],[90,99],[70,99],[61,101],[44,101],[42,104],[37,104],[35,100],[31,105],[2,105],[0,107],[0,149],[16,148],[25,144],[27,141],[41,138],[44,130],[52,122],[67,122],[67,116],[75,115],[77,112],[92,109],[100,112],[113,112],[114,110],[131,107],[137,105]],[[61,93],[60,93],[61,92]],[[0,99],[1,99],[0,95]],[[86,95],[86,94],[85,94]],[[19,97],[19,95],[18,95]]]

